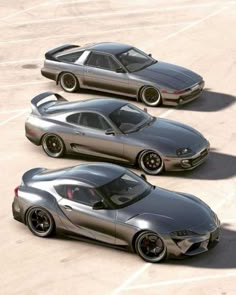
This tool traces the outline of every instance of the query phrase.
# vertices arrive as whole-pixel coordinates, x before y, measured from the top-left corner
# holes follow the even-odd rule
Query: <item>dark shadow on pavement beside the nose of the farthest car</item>
[[[196,100],[179,106],[176,109],[184,111],[197,112],[217,112],[233,105],[236,97],[233,95],[204,90],[199,98]]]

